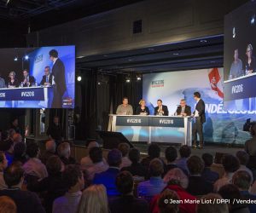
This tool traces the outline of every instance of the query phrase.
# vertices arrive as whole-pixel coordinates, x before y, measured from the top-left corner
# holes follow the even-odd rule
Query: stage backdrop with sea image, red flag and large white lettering
[[[199,91],[206,103],[205,141],[244,144],[250,135],[242,131],[242,126],[247,118],[256,120],[256,111],[224,110],[223,76],[223,68],[144,74],[143,98],[150,114],[161,99],[173,115],[183,98],[194,112],[193,93]]]

